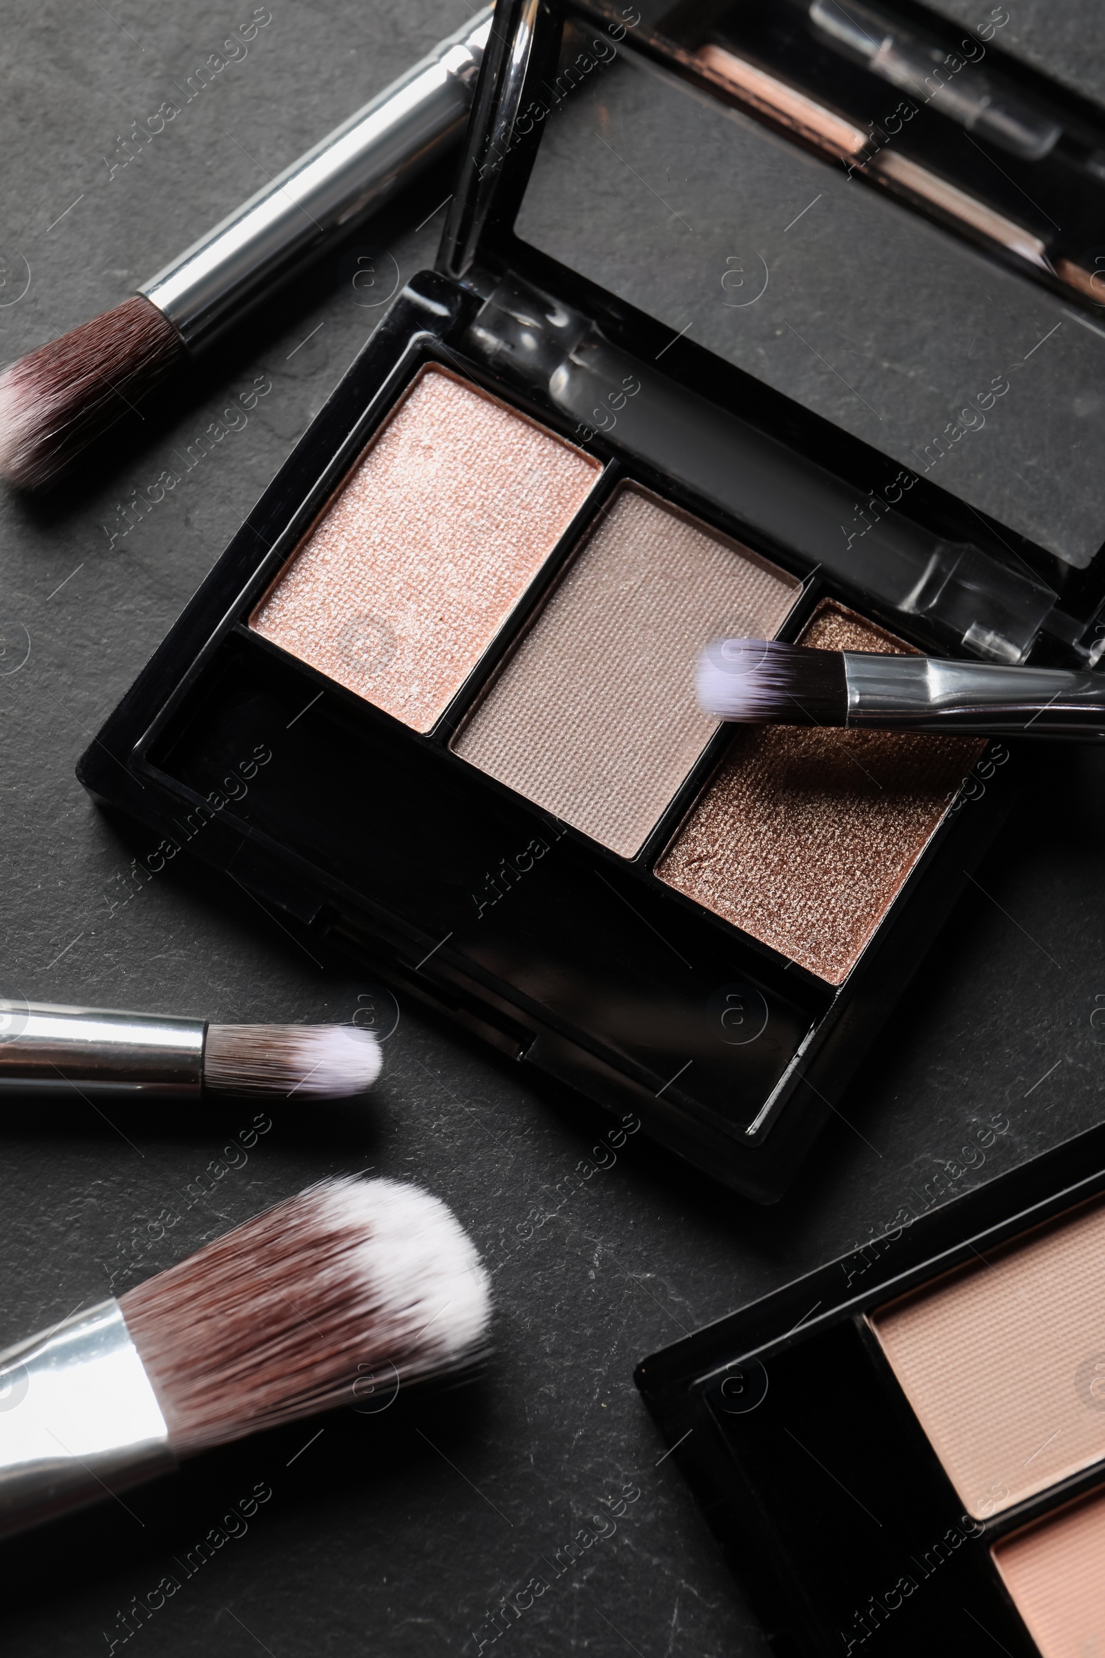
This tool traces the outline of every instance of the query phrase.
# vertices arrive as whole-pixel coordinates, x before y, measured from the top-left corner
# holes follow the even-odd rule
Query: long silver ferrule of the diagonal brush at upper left
[[[189,351],[202,351],[449,148],[472,104],[490,13],[442,40],[138,290]]]

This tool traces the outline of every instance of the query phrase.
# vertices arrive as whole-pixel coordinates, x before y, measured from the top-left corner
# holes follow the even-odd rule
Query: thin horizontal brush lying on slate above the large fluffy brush
[[[0,1091],[343,1099],[369,1088],[381,1063],[379,1043],[356,1025],[207,1025],[0,1001]]]

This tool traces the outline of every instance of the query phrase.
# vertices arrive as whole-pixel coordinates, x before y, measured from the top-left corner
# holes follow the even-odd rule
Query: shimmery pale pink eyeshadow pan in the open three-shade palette
[[[600,463],[429,368],[252,627],[427,731],[591,489]]]

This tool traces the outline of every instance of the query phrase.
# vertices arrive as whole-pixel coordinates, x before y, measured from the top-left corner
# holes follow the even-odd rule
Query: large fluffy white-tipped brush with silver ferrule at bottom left
[[[482,1356],[489,1315],[475,1247],[437,1197],[351,1176],[310,1185],[0,1353],[0,1535],[376,1381],[459,1371]]]

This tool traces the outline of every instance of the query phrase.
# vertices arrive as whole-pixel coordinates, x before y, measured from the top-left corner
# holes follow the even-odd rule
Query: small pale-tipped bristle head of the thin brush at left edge
[[[383,1054],[356,1025],[209,1025],[204,1088],[212,1094],[315,1094],[371,1088]]]

